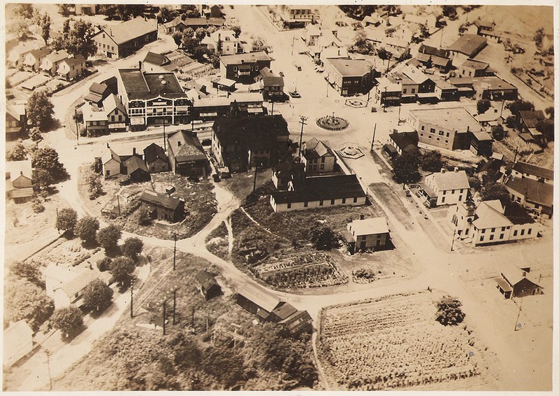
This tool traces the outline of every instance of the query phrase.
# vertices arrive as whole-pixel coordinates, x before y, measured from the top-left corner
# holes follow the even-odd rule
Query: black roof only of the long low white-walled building
[[[277,204],[287,204],[365,197],[365,192],[356,175],[335,175],[306,178],[296,190],[273,191],[272,197]]]

